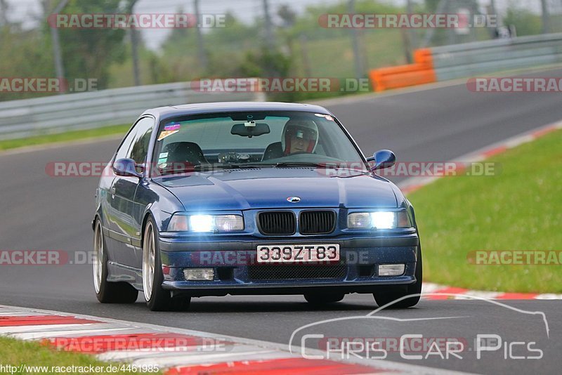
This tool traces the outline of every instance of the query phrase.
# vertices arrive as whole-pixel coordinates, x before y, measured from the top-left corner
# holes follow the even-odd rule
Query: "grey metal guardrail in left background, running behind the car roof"
[[[152,107],[243,100],[263,100],[263,93],[203,93],[177,82],[10,100],[0,102],[0,139],[133,124]]]

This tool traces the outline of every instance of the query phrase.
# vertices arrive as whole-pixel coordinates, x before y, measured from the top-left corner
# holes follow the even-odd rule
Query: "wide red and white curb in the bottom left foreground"
[[[40,341],[109,362],[157,366],[166,375],[452,374],[387,360],[310,360],[279,343],[5,305],[0,305],[0,336]],[[306,353],[322,352],[307,348]]]

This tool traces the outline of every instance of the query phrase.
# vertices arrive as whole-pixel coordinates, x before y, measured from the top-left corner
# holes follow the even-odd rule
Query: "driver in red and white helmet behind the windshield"
[[[318,145],[318,126],[312,120],[291,119],[285,124],[281,147],[285,155],[313,153]]]

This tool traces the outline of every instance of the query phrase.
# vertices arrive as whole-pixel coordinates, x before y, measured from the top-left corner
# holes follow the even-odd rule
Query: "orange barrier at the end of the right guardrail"
[[[371,70],[369,78],[374,91],[436,82],[431,49],[421,48],[414,51],[414,64]]]

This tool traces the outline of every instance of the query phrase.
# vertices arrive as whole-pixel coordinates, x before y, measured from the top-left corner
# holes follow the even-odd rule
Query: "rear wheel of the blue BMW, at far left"
[[[135,303],[138,291],[128,282],[107,281],[107,249],[100,219],[93,231],[93,289],[101,303]]]

